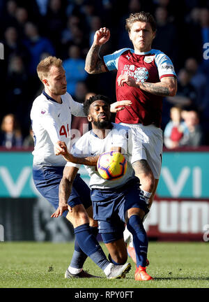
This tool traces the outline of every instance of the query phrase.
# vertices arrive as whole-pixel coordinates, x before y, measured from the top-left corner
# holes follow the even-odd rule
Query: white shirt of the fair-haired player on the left
[[[84,117],[83,104],[77,103],[66,92],[57,103],[45,91],[33,101],[31,122],[34,135],[33,166],[65,166],[61,155],[54,154],[54,144],[64,141],[70,150],[72,115]]]

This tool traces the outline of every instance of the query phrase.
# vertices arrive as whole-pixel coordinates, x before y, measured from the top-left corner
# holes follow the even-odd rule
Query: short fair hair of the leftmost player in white
[[[43,78],[47,78],[47,75],[49,73],[49,69],[52,66],[56,66],[58,68],[62,67],[63,61],[61,59],[58,59],[57,57],[46,57],[45,59],[42,59],[38,66],[37,66],[37,73],[38,73],[38,78],[42,81]]]

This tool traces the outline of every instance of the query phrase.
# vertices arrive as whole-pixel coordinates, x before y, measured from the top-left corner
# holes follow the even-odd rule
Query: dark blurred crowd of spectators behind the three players
[[[0,145],[33,146],[29,114],[43,89],[36,66],[48,55],[63,60],[68,92],[75,101],[91,94],[116,101],[116,73],[88,75],[86,54],[100,27],[111,31],[101,56],[132,48],[125,19],[140,10],[155,17],[153,48],[171,58],[178,78],[176,96],[163,102],[164,145],[209,145],[208,0],[0,0]],[[72,120],[74,128],[83,122]]]

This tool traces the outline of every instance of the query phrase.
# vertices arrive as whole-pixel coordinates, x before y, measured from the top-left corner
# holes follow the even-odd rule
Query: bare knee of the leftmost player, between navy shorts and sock
[[[72,223],[73,227],[79,227],[82,224],[89,223],[88,214],[82,203],[74,206],[72,212],[68,212],[66,218]]]

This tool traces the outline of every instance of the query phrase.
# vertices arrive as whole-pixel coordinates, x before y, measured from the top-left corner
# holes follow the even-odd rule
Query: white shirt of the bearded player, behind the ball
[[[85,166],[91,178],[89,182],[91,188],[109,189],[121,187],[134,177],[134,169],[132,168],[132,131],[130,131],[129,127],[125,127],[121,124],[112,123],[112,126],[112,129],[107,132],[105,138],[98,138],[91,130],[79,138],[72,146],[71,153],[76,157],[92,157],[110,151],[112,147],[121,147],[121,153],[124,154],[125,159],[127,160],[127,171],[125,175],[118,180],[104,180],[95,166]],[[134,161],[135,160],[136,157],[134,157]],[[81,165],[72,164],[68,161],[66,166],[75,166],[79,168]]]

